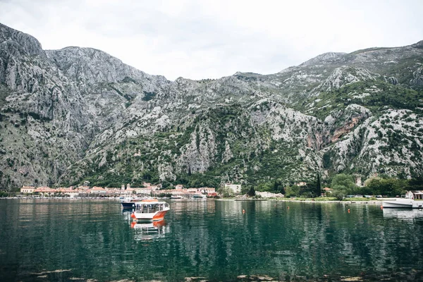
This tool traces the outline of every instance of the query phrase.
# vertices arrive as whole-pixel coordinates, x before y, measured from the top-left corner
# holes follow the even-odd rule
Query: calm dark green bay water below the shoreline
[[[166,225],[147,233],[114,200],[0,200],[0,281],[423,281],[423,211],[168,202]]]

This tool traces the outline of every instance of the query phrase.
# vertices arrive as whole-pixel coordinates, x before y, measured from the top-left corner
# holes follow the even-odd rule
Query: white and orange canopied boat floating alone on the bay
[[[131,217],[137,220],[161,221],[169,209],[166,202],[159,202],[157,199],[142,200],[135,203],[135,211]]]

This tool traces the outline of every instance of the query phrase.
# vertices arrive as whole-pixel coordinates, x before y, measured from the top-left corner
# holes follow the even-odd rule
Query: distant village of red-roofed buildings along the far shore
[[[84,185],[68,188],[49,188],[47,186],[23,186],[20,188],[21,195],[39,197],[131,197],[131,196],[152,196],[170,195],[171,197],[192,198],[192,197],[214,197],[217,196],[215,188],[184,188],[183,185],[176,185],[172,190],[161,189],[161,185],[143,183],[142,188],[131,188],[130,184],[122,185],[121,188],[90,187],[86,181]],[[226,183],[225,188],[231,189],[234,194],[241,192],[241,185]]]

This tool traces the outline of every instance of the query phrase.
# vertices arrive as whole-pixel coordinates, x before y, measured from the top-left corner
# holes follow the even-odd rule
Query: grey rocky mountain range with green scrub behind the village
[[[169,81],[0,24],[0,188],[422,175],[421,45]]]

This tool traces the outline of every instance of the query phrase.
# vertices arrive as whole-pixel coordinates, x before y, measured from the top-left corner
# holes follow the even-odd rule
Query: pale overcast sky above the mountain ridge
[[[169,80],[270,74],[328,51],[423,40],[422,0],[0,0],[43,49],[92,47]]]

